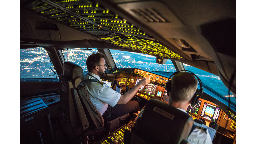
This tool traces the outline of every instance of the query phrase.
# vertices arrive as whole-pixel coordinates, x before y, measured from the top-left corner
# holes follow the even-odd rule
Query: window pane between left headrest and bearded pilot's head
[[[76,48],[71,50],[62,50],[65,61],[73,62],[83,68],[83,71],[87,71],[86,60],[93,52],[97,53],[96,48],[90,48],[92,50],[81,50],[82,48]]]

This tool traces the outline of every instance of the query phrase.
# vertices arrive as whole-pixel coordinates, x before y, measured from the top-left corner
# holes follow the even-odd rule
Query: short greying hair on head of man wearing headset
[[[171,79],[171,91],[168,92],[170,101],[188,102],[196,92],[198,81],[194,75],[188,72],[175,74]]]

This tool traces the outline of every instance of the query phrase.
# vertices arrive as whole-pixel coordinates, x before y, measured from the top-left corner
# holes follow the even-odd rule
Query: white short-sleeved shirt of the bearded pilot
[[[101,82],[99,76],[88,72],[90,75],[94,76],[98,81]],[[94,77],[88,74],[84,75],[84,80],[93,79]],[[94,78],[94,79],[95,79]],[[107,84],[100,84],[98,82],[90,82],[85,84],[90,100],[92,104],[97,108],[97,110],[102,115],[108,108],[108,105],[114,107],[119,101],[121,94],[111,89]]]

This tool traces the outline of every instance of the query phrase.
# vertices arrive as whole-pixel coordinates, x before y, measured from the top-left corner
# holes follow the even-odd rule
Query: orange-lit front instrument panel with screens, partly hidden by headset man
[[[137,68],[131,72],[131,74],[132,75],[128,77],[122,77],[116,80],[119,81],[120,85],[125,85],[132,89],[141,79],[149,77],[150,83],[139,88],[136,96],[146,100],[154,98],[164,103],[169,102],[169,97],[165,90],[165,85],[168,82],[167,77]],[[219,126],[225,127],[226,122],[228,122],[226,129],[230,131],[230,137],[233,137],[232,135],[234,135],[236,131],[236,122],[231,120],[220,107],[210,101],[199,99],[199,102],[196,105],[190,105],[188,107],[187,112],[193,117],[193,119],[204,121],[206,126],[209,126],[209,123],[213,121]]]

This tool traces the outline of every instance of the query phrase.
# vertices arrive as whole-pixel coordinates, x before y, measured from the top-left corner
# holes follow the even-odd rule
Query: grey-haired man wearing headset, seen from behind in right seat
[[[187,113],[186,110],[191,103],[192,97],[196,92],[198,81],[191,73],[179,72],[172,77],[171,91],[167,91],[169,105]],[[142,115],[143,110],[138,117]],[[137,118],[136,118],[137,119]],[[208,130],[204,131],[195,128],[188,136],[189,144],[212,144]]]

